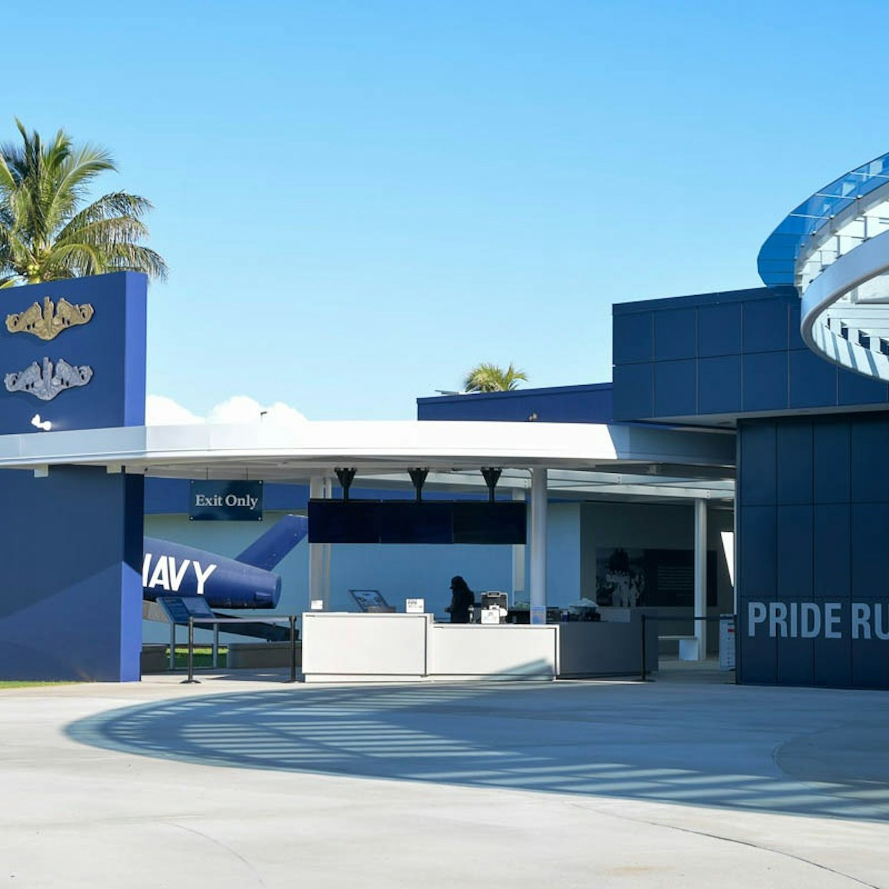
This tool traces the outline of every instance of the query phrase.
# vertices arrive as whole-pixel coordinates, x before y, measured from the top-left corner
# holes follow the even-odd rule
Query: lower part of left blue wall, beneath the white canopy
[[[0,476],[0,678],[139,679],[142,479]]]

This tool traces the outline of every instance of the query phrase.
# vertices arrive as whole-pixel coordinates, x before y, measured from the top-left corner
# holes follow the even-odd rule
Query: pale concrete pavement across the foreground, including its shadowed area
[[[889,887],[889,694],[0,692],[0,886]]]

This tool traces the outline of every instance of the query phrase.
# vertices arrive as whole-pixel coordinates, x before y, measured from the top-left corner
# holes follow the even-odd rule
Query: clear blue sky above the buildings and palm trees
[[[407,419],[479,361],[609,380],[615,301],[757,286],[889,150],[885,3],[46,0],[5,122],[155,204],[148,390]],[[15,76],[9,76],[9,72]]]

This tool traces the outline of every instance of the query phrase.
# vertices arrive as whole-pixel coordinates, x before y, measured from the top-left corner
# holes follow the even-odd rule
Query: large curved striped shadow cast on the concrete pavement
[[[67,732],[203,765],[885,821],[887,729],[883,693],[548,683],[189,696]]]

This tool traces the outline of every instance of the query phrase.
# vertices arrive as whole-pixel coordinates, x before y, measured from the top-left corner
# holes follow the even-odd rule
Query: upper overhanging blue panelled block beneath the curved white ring
[[[813,355],[793,288],[613,307],[615,420],[889,404],[889,388]]]

